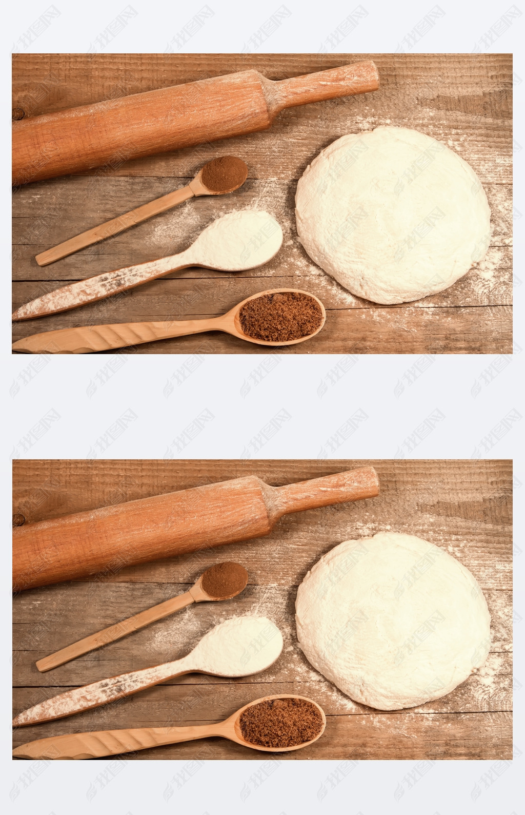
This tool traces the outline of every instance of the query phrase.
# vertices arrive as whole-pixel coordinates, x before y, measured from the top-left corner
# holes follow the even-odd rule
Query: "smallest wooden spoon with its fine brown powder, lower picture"
[[[203,572],[195,585],[184,594],[171,597],[164,603],[159,603],[158,606],[152,606],[150,609],[141,611],[140,614],[123,619],[120,623],[115,623],[115,625],[110,625],[109,628],[103,628],[103,631],[98,631],[96,634],[90,634],[89,637],[73,642],[72,645],[56,651],[55,654],[39,659],[36,663],[37,668],[41,672],[50,671],[53,667],[77,659],[81,654],[87,654],[88,651],[100,648],[101,645],[120,640],[120,637],[125,637],[126,634],[131,634],[133,631],[138,631],[139,628],[155,623],[158,619],[164,619],[164,617],[174,614],[175,611],[190,606],[191,603],[200,603],[205,600],[231,600],[232,597],[237,597],[246,588],[247,582],[248,573],[240,563],[217,563]]]

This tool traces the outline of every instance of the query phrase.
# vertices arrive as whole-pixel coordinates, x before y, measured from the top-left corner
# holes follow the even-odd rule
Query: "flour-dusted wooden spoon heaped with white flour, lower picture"
[[[271,620],[266,617],[234,617],[208,631],[190,654],[182,659],[68,690],[22,711],[15,716],[13,726],[35,725],[37,722],[71,716],[72,713],[100,707],[185,673],[250,676],[265,671],[278,659],[281,651],[282,634]]]

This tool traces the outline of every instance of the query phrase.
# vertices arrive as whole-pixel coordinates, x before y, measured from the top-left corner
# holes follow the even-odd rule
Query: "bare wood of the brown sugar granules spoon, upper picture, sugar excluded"
[[[298,340],[288,340],[286,342],[270,342],[248,337],[243,332],[239,319],[239,311],[241,311],[244,304],[250,300],[255,300],[256,297],[263,297],[265,294],[283,292],[296,292],[312,297],[322,310],[322,321],[319,328],[308,334],[307,337],[300,337]],[[17,340],[13,343],[12,349],[25,354],[90,354],[92,351],[138,346],[142,342],[186,337],[188,334],[202,334],[205,331],[224,331],[238,337],[240,340],[255,342],[259,346],[295,346],[298,342],[304,342],[315,337],[321,331],[325,320],[325,306],[315,295],[303,292],[301,289],[267,289],[265,292],[258,292],[252,294],[252,297],[247,297],[246,300],[238,303],[237,306],[234,306],[221,317],[184,319],[164,323],[116,323],[113,325],[87,325],[81,326],[81,328],[59,328],[57,331],[32,334],[30,337]]]

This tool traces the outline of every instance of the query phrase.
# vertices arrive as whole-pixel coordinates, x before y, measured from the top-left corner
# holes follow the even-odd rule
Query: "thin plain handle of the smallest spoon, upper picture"
[[[118,235],[119,232],[129,229],[129,227],[134,227],[136,223],[147,221],[147,219],[152,218],[153,215],[166,212],[167,209],[172,209],[172,207],[177,206],[177,204],[182,204],[182,201],[188,200],[188,198],[191,198],[193,195],[194,193],[190,187],[182,187],[182,189],[176,190],[175,192],[168,192],[167,196],[156,198],[148,204],[139,206],[137,209],[131,209],[124,215],[119,215],[118,218],[112,218],[111,221],[106,221],[98,227],[81,232],[81,235],[77,235],[69,240],[64,240],[63,244],[59,244],[52,249],[47,249],[46,252],[37,254],[35,260],[38,266],[47,266],[49,263],[55,262],[55,260],[65,258],[73,252],[78,252],[79,249],[85,249],[86,246],[96,244],[99,240],[104,240],[104,238],[108,238],[112,235]]]

